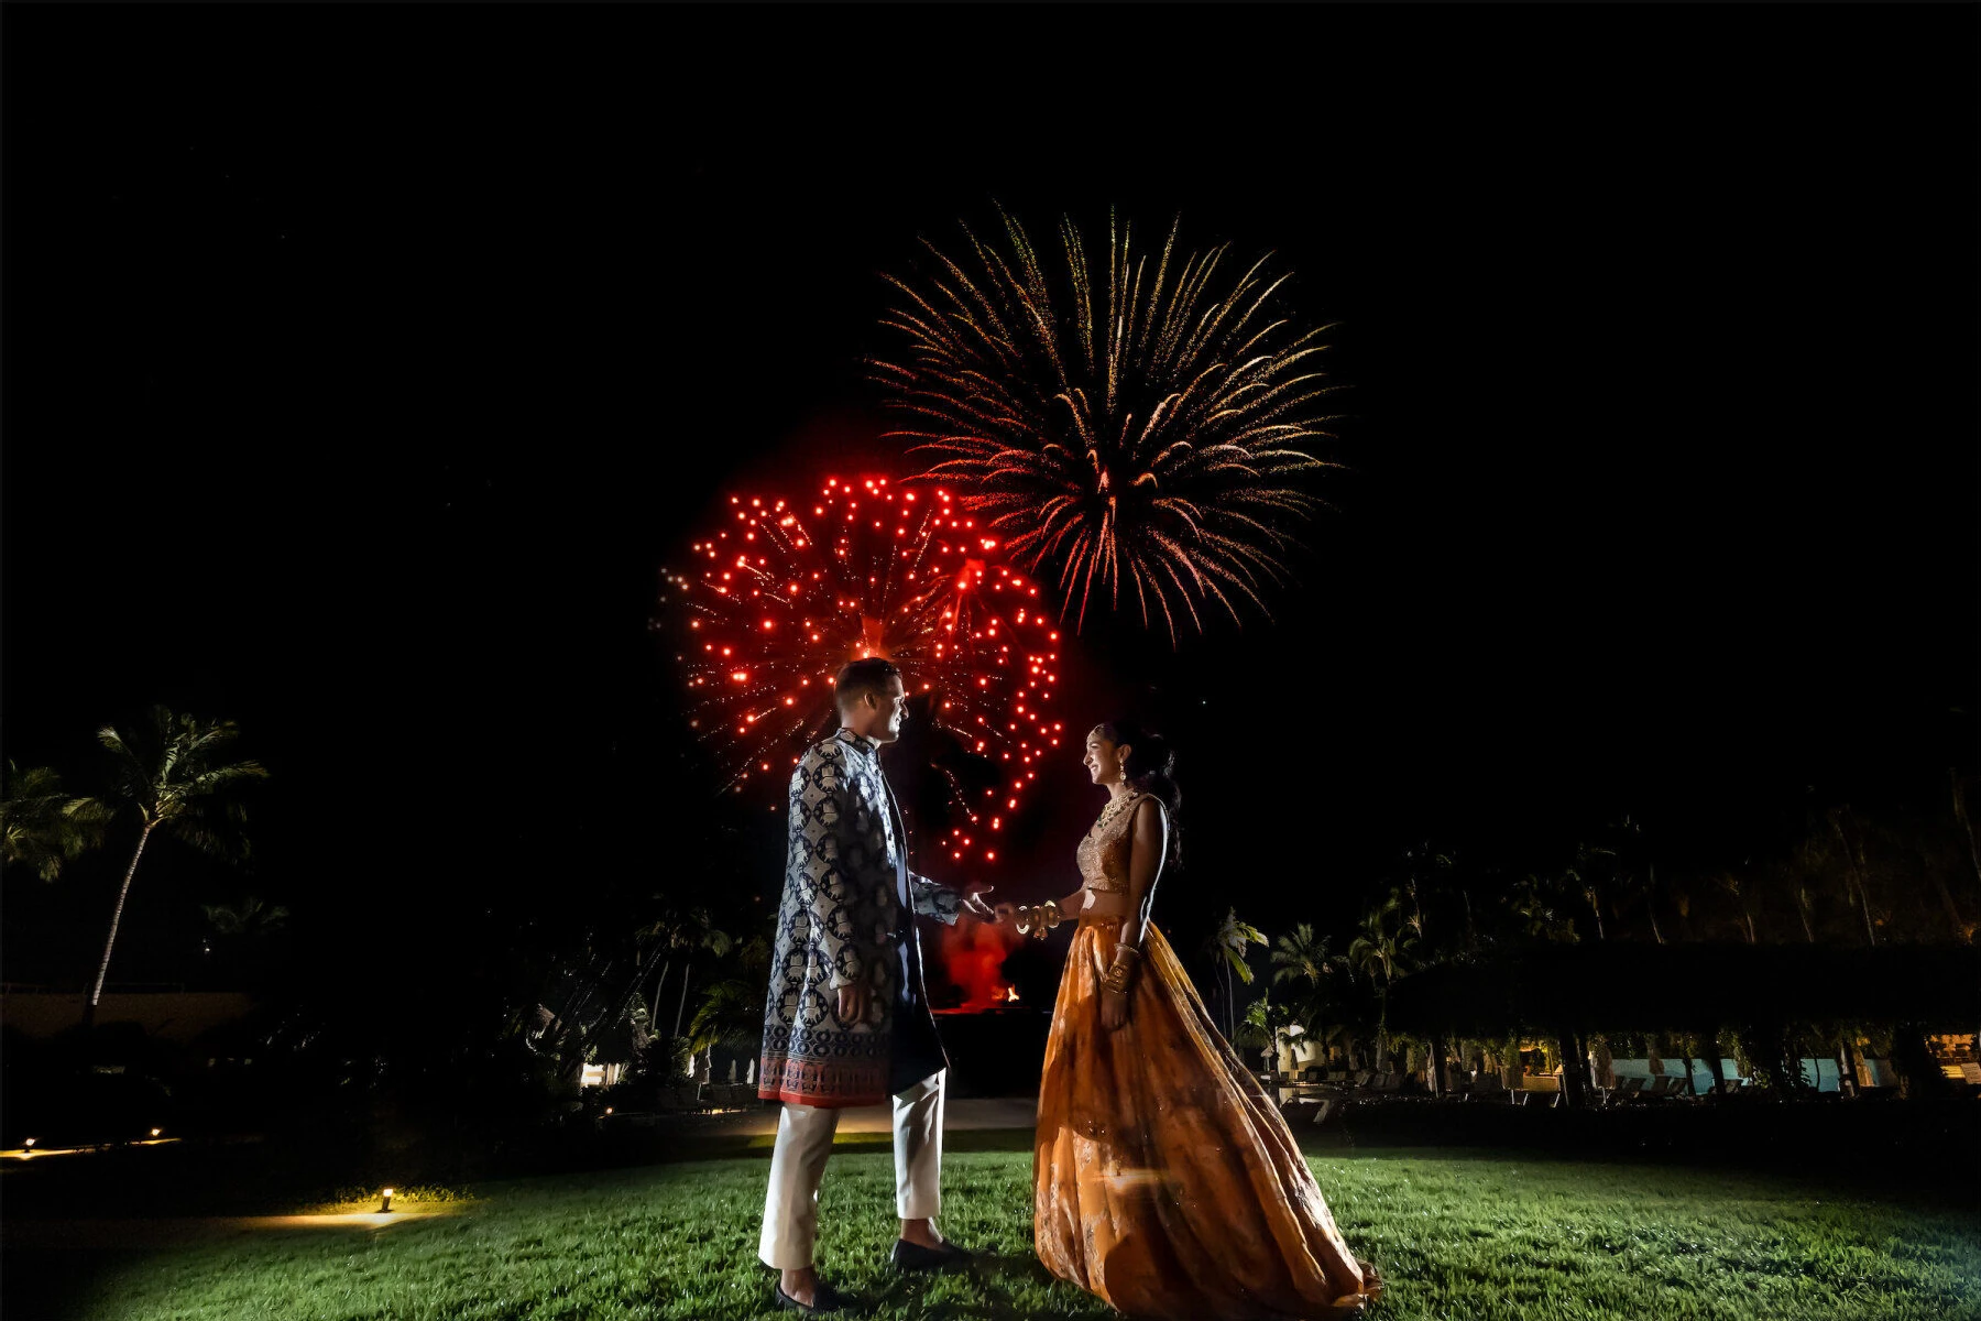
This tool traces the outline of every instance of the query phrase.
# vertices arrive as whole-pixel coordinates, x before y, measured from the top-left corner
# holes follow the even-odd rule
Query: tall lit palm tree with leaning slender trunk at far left
[[[131,877],[137,875],[145,846],[151,844],[151,832],[162,826],[202,854],[222,858],[248,854],[248,838],[240,832],[248,812],[236,792],[246,780],[267,778],[267,770],[254,761],[230,759],[238,737],[234,721],[202,721],[164,707],[151,709],[151,729],[139,739],[125,739],[111,725],[97,731],[97,741],[111,753],[113,790],[121,806],[137,812],[139,836],[131,865],[125,867],[123,889],[117,891],[117,907],[111,911],[103,963],[97,965],[89,1004],[83,1006],[85,1026],[97,1018],[97,1000],[103,998],[111,951],[117,947],[117,923],[123,921]]]

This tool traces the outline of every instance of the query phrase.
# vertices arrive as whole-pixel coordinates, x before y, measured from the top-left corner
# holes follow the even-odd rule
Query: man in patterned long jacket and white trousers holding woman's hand
[[[812,1264],[818,1180],[848,1105],[893,1097],[901,1218],[893,1266],[931,1270],[969,1258],[935,1230],[949,1058],[921,984],[915,913],[955,923],[969,909],[994,919],[981,889],[959,893],[907,869],[901,812],[880,766],[882,745],[907,719],[901,671],[886,660],[852,661],[834,697],[840,731],[790,776],[790,852],[757,1083],[757,1095],[784,1103],[757,1256],[779,1270],[779,1307],[804,1315],[852,1303]]]

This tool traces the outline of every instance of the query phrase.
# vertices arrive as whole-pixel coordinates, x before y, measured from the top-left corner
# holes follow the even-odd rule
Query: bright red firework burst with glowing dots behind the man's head
[[[1050,717],[1060,634],[1038,586],[996,562],[998,537],[947,489],[834,477],[812,501],[735,495],[729,515],[693,545],[693,572],[668,574],[687,614],[691,723],[725,788],[763,786],[779,810],[806,741],[830,727],[838,667],[884,656],[992,780],[965,798],[939,766],[961,808],[941,852],[996,864],[1010,814],[1064,737]]]

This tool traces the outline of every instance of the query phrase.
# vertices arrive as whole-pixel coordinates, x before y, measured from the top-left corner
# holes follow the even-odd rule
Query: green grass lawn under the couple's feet
[[[1379,1319],[1981,1317],[1973,1210],[1450,1149],[1329,1151],[1311,1165],[1349,1244],[1389,1279]],[[378,1232],[263,1230],[91,1254],[81,1315],[771,1317],[771,1275],[755,1264],[767,1169],[725,1159],[499,1182],[473,1188],[456,1214]],[[901,1321],[1111,1315],[1032,1258],[1030,1153],[953,1151],[943,1176],[945,1230],[994,1252],[990,1262],[971,1275],[893,1277],[882,1264],[893,1167],[868,1145],[842,1149],[826,1174],[828,1277]]]

